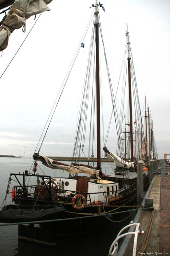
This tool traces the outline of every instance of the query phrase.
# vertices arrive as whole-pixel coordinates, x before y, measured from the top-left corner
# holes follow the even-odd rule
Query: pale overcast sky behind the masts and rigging
[[[105,12],[102,8],[99,11],[113,86],[116,88],[118,83],[127,23],[141,110],[144,110],[146,94],[153,117],[158,157],[163,158],[164,153],[170,153],[170,1],[105,0],[100,3],[104,3],[105,8]],[[94,12],[89,8],[91,4],[95,2],[53,0],[48,5],[51,11],[41,14],[0,79],[0,154],[23,156],[24,149],[26,156],[34,153],[72,57]],[[8,47],[0,58],[0,75],[34,22],[34,17],[29,18],[26,33],[19,29],[9,37]],[[82,56],[83,51],[80,52]],[[79,79],[81,68],[76,65],[78,72],[68,81],[70,84],[64,90],[41,154],[72,155],[77,103],[80,101],[79,82],[75,82],[75,77]],[[116,134],[110,138],[110,144],[112,148],[109,149],[115,152]]]

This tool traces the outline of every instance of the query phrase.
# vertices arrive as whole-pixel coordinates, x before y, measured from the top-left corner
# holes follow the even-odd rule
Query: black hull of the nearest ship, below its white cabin
[[[123,206],[124,202],[122,201],[119,200],[119,202],[115,203]],[[43,223],[40,226],[47,230],[55,229],[57,237],[92,233],[107,229],[108,227],[115,228],[121,225],[121,223],[130,222],[133,212],[129,212],[129,210],[133,210],[134,207],[130,206],[135,205],[135,202],[136,198],[133,196],[130,200],[127,200],[125,204],[127,207],[114,207],[113,210],[112,207],[104,206],[103,208],[102,206],[100,214],[98,213],[98,208],[86,207],[88,209],[84,208],[84,210],[73,212],[72,206],[67,206],[66,211],[62,213],[62,219],[56,222]]]

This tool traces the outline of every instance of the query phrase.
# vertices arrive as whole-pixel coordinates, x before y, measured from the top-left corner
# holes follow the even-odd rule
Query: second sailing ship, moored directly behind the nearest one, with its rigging
[[[118,127],[117,153],[115,154],[109,151],[107,147],[103,148],[103,150],[106,153],[106,157],[114,161],[116,165],[116,174],[121,175],[122,172],[137,172],[137,161],[144,159],[144,155],[142,153],[144,149],[146,151],[146,141],[143,131],[144,129],[142,124],[142,114],[138,96],[137,82],[135,78],[134,63],[130,45],[128,26],[126,30],[126,38],[126,50],[122,62],[124,64],[124,67],[121,69],[121,72],[124,72],[122,79],[122,105],[120,106],[119,116],[115,118]],[[127,101],[125,101],[126,91],[128,95]],[[126,102],[127,105],[129,105],[127,109],[125,106]],[[124,109],[127,110],[129,115],[126,115],[126,113],[124,113]],[[133,114],[135,115],[134,122]],[[128,121],[126,118],[128,118]],[[148,168],[144,166],[143,170],[146,171],[147,169]]]

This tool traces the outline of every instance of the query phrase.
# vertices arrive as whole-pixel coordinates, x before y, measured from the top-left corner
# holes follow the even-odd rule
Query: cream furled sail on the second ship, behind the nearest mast
[[[109,151],[106,147],[104,147],[103,150],[105,151],[108,159],[114,160],[116,166],[127,169],[131,167],[134,168],[134,162],[127,162],[123,160],[122,158],[118,157],[117,155]]]

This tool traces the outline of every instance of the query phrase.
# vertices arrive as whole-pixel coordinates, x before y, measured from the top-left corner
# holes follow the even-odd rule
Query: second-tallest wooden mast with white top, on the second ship
[[[131,161],[133,161],[133,121],[132,121],[132,93],[131,93],[131,67],[130,67],[130,41],[129,41],[129,32],[127,27],[127,63],[128,63],[128,79],[129,79],[129,113],[130,113],[130,153]]]

